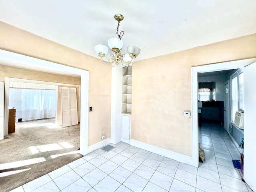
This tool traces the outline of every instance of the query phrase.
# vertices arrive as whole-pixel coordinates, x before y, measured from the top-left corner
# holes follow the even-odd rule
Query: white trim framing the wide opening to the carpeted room
[[[49,62],[46,60],[41,60],[38,58],[33,58],[22,54],[9,52],[6,50],[0,50],[0,64],[44,72],[50,70],[52,71],[52,73],[55,74],[65,74],[81,77],[80,97],[83,99],[81,99],[80,115],[83,118],[80,119],[80,154],[86,155],[88,152],[89,72],[86,70],[61,65],[54,62]],[[6,104],[5,109],[8,109],[8,106],[6,106]],[[4,116],[4,126],[6,127],[8,126],[8,120],[6,121],[6,117],[8,119],[8,110],[5,110]]]

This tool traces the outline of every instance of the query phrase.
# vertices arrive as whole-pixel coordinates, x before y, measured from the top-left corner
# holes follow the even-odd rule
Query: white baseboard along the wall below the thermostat
[[[180,153],[176,153],[167,149],[163,149],[160,147],[156,147],[156,146],[146,144],[140,141],[132,140],[132,139],[130,140],[130,145],[197,167],[197,164],[194,164],[194,161],[190,156],[186,156]]]

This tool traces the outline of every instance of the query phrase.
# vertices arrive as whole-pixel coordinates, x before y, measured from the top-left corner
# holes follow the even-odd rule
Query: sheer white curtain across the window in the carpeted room
[[[10,107],[22,112],[22,120],[54,118],[56,86],[10,82]]]

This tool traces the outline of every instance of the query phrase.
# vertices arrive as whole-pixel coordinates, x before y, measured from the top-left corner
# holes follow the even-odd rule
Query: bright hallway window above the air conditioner
[[[244,112],[244,73],[238,70],[231,76],[231,119],[234,122],[236,111]]]

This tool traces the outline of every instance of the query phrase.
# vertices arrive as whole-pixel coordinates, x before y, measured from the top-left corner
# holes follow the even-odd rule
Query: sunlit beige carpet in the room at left
[[[8,192],[82,157],[78,151],[80,124],[61,128],[55,126],[54,121],[18,122],[15,133],[0,140],[1,192]]]

